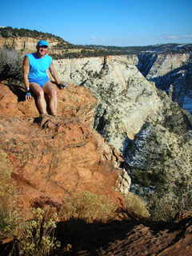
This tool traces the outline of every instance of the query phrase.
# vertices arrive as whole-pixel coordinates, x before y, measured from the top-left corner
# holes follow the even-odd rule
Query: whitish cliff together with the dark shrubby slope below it
[[[147,81],[135,62],[133,55],[54,64],[63,80],[98,98],[94,128],[126,158],[132,190],[178,202],[185,187],[186,198],[191,193],[191,116]]]

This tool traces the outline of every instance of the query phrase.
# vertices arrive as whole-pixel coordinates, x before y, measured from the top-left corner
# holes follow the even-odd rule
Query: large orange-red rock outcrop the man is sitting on
[[[22,90],[15,93],[22,98]],[[120,204],[113,162],[121,158],[90,128],[97,102],[90,91],[58,90],[58,117],[46,119],[38,118],[34,100],[18,102],[16,94],[0,85],[0,150],[12,168],[18,207],[27,212],[39,200],[58,205],[83,190]]]

